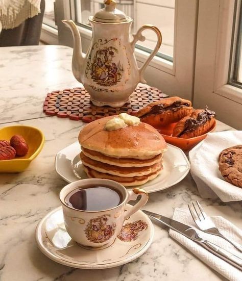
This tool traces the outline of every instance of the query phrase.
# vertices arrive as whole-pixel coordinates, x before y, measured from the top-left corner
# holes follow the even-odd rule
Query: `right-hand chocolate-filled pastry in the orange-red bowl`
[[[173,137],[189,139],[206,134],[215,123],[215,112],[195,109],[190,116],[182,118],[174,127]]]

